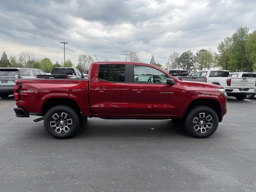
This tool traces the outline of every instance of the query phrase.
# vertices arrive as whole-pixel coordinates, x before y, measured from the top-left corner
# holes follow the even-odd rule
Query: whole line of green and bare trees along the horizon
[[[127,60],[142,62],[136,52],[131,52]],[[78,56],[76,68],[87,73],[92,62],[94,62],[92,56],[81,54]],[[256,31],[249,33],[249,28],[241,26],[231,37],[222,40],[218,45],[218,52],[212,51],[211,48],[199,50],[196,54],[190,50],[181,55],[178,52],[173,52],[169,55],[168,62],[163,65],[156,63],[153,55],[150,64],[163,69],[186,69],[190,74],[206,69],[254,72],[256,70]],[[66,60],[65,64],[63,62],[59,64],[58,61],[52,64],[49,58],[37,59],[26,52],[22,52],[18,59],[15,56],[10,56],[8,59],[4,52],[0,60],[0,67],[29,67],[51,72],[53,67],[74,67],[74,64],[70,59]]]

